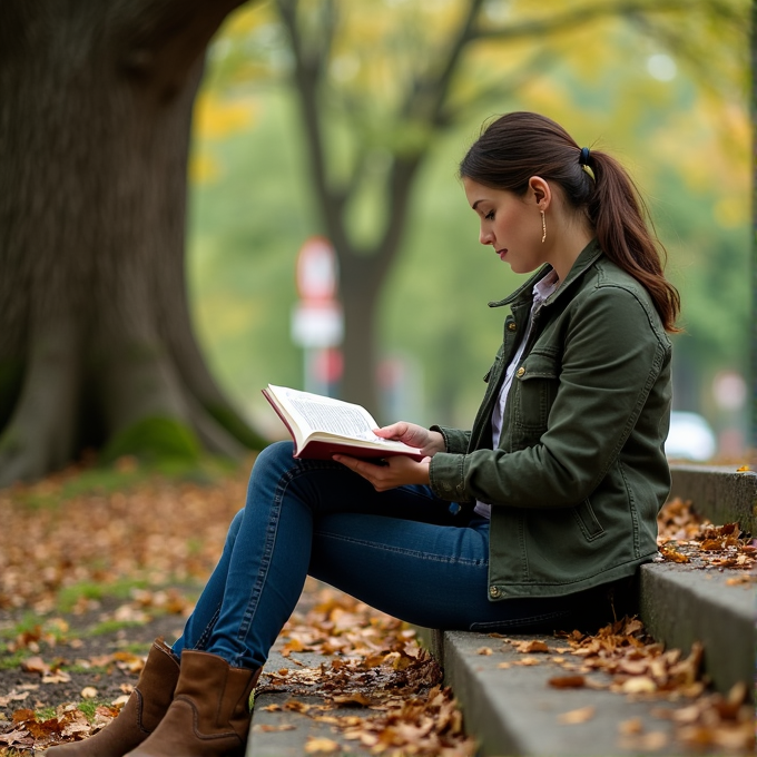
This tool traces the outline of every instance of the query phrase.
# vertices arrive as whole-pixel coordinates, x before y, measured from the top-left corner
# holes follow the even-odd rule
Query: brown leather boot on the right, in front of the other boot
[[[127,757],[243,755],[249,695],[260,668],[232,668],[208,652],[184,650],[174,701],[155,733]]]

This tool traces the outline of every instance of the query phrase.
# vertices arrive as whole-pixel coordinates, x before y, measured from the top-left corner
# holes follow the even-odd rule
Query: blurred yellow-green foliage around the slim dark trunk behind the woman
[[[402,71],[435,65],[440,42],[459,21],[453,7],[460,6],[434,6],[421,22],[415,17],[426,11],[416,3],[378,3],[362,26],[362,6],[345,6],[360,33],[344,32],[336,43],[334,75],[322,92],[322,126],[337,185],[360,150],[365,153],[370,171],[352,187],[344,215],[350,234],[366,248],[385,217],[390,153],[416,145],[421,134],[413,114],[397,120],[392,110],[409,81]],[[484,16],[494,28],[503,18],[517,23],[576,7],[523,1],[507,9],[503,3],[498,14],[497,3],[485,3]],[[726,7],[738,22],[747,3]],[[429,160],[383,295],[381,352],[414,366],[421,386],[403,410],[407,420],[470,423],[483,392],[481,376],[501,340],[502,313],[486,302],[522,283],[478,244],[476,220],[455,179],[481,122],[507,110],[544,112],[581,144],[607,149],[629,167],[649,198],[669,250],[669,274],[681,291],[686,335],[677,337],[676,351],[691,365],[697,392],[706,393],[714,371],[745,370],[750,196],[745,37],[727,24],[702,23],[702,9],[697,4],[686,18],[656,17],[643,35],[627,20],[610,20],[535,40],[491,39],[464,58],[448,126],[423,135]],[[196,136],[195,150],[212,155],[218,174],[193,187],[189,259],[193,305],[210,363],[245,411],[265,423],[271,413],[259,389],[268,382],[302,384],[302,355],[288,336],[294,260],[302,242],[323,228],[304,158],[303,119],[284,82],[291,65],[282,51],[285,37],[271,9],[257,12],[243,9],[240,20],[232,17],[212,48],[205,91],[252,104],[255,117],[242,132]],[[394,12],[403,21],[392,31]],[[666,47],[674,36],[680,45]],[[244,50],[254,52],[245,58]],[[672,63],[671,78],[652,73],[655,56]],[[276,424],[272,419],[269,427]]]

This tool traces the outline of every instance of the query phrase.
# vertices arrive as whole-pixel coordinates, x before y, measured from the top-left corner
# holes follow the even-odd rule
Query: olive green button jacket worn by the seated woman
[[[473,430],[441,431],[431,488],[491,503],[489,594],[552,597],[633,574],[670,489],[670,341],[647,291],[597,242],[537,314],[492,450],[491,416],[544,266],[510,305]]]

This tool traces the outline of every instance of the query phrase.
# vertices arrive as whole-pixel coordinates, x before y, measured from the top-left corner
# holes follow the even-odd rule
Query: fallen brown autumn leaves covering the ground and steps
[[[68,471],[0,490],[0,755],[82,738],[117,714],[151,640],[180,632],[244,502],[247,470],[187,480],[145,475],[125,460],[111,474]],[[755,580],[750,538],[738,524],[700,522],[688,503],[661,513],[660,551],[661,559],[728,570],[733,582]],[[554,645],[493,635],[480,653],[497,645],[521,645],[522,665],[550,655],[564,668],[550,680],[558,688],[596,686],[587,674],[602,670],[620,696],[680,699],[672,717],[691,748],[754,748],[745,687],[727,697],[709,692],[699,677],[701,650],[663,650],[636,619]],[[292,711],[374,754],[473,754],[438,666],[397,620],[308,582],[279,648],[298,667],[267,675],[262,686],[287,690]],[[328,656],[328,665],[299,663],[307,652]],[[297,698],[313,694],[318,706]],[[332,714],[345,705],[370,715]],[[636,727],[627,724],[625,736],[655,748]],[[311,754],[340,749],[328,738],[307,744]]]

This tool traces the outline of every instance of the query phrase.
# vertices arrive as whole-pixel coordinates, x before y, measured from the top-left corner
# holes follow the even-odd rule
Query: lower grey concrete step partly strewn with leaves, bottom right
[[[550,649],[561,647],[553,637],[518,637],[540,639]],[[550,678],[564,676],[554,661],[560,656],[540,655],[539,665],[521,666],[523,655],[512,645],[498,643],[482,633],[448,631],[443,636],[445,682],[452,686],[461,704],[465,730],[479,741],[479,755],[611,755],[661,754],[671,751],[672,724],[652,716],[669,702],[629,701],[627,696],[591,688],[558,689]],[[482,647],[493,653],[479,653]],[[537,656],[533,656],[537,657]],[[578,660],[578,658],[573,658]],[[502,669],[502,663],[511,667]],[[587,676],[597,684],[609,681],[604,674]],[[591,709],[587,709],[591,708]],[[586,721],[563,722],[577,710],[590,714]],[[641,733],[623,736],[625,724],[637,720]],[[580,718],[579,718],[580,720]],[[652,736],[650,736],[650,734]]]

